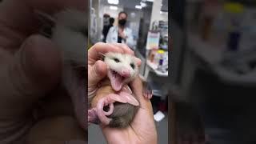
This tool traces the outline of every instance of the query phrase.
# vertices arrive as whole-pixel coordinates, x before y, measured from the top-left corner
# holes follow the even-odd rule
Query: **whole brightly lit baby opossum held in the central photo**
[[[138,65],[130,54],[109,52],[103,55],[108,78],[101,83],[96,96],[89,97],[91,109],[88,110],[88,121],[125,128],[133,121],[139,107],[138,100],[127,85],[137,76]],[[113,93],[106,93],[108,89],[112,89]]]

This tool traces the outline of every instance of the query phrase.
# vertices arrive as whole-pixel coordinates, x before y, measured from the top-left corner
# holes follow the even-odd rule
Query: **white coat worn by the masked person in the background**
[[[126,43],[131,49],[134,50],[134,38],[130,28],[125,27],[123,33],[126,35],[126,42],[122,40],[122,43]],[[106,35],[106,43],[117,43],[118,42],[118,26],[112,26]]]

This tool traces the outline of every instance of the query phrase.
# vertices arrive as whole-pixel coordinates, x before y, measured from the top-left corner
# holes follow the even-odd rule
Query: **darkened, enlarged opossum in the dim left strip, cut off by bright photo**
[[[62,53],[62,85],[70,94],[80,125],[86,129],[86,12],[64,10],[50,16],[35,11],[43,23],[41,34],[51,38]]]

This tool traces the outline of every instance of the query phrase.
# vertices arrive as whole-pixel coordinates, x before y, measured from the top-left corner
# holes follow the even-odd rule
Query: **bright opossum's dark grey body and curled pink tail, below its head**
[[[111,90],[113,94],[105,92]],[[122,103],[122,100],[118,99],[118,97],[120,97],[120,95],[114,95],[114,90],[111,86],[102,86],[99,88],[97,95],[91,102],[92,108],[88,111],[89,122],[97,124],[101,123],[103,125],[118,128],[129,126],[138,111],[138,106],[131,105],[130,103]],[[104,104],[108,104],[107,102],[102,103],[102,100],[106,100],[107,98],[113,100],[111,102],[116,101],[112,108],[110,106],[112,103],[107,106],[104,106]],[[119,100],[121,102],[118,102]]]

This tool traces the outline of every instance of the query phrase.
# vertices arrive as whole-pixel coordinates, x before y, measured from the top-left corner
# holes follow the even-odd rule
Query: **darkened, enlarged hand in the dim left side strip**
[[[86,7],[83,0],[9,0],[0,4],[0,143],[22,143],[34,126],[38,99],[54,96],[62,75],[61,54],[40,35],[34,10],[54,14]],[[56,93],[55,93],[56,94]],[[57,95],[55,95],[57,96]]]

